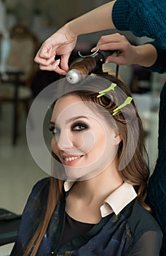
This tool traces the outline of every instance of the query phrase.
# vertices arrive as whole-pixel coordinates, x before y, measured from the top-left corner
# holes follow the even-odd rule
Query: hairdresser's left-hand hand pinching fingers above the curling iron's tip
[[[66,75],[66,72],[68,72],[68,58],[76,45],[76,39],[77,37],[69,34],[66,26],[52,34],[42,44],[34,59],[39,64],[39,68]],[[56,56],[60,56],[61,60],[55,60]]]

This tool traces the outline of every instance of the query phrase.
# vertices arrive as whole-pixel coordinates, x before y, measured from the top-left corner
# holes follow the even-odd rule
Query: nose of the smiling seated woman
[[[65,151],[66,149],[73,147],[73,143],[68,135],[68,132],[61,132],[56,140],[60,150]]]

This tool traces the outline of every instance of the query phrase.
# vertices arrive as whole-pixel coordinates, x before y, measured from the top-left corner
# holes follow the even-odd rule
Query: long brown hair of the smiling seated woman
[[[113,75],[108,74],[100,74],[100,78],[105,78],[103,81],[107,81],[106,87],[108,87],[108,84],[116,83],[116,85],[127,95],[127,97],[131,96],[130,89],[128,89],[127,86],[122,82],[122,80],[119,80],[115,78]],[[91,80],[91,78],[90,78]],[[95,82],[93,83],[93,86],[95,88],[103,89],[104,84],[97,84]],[[88,81],[89,82],[89,81]],[[83,81],[82,83],[87,83],[87,80]],[[90,84],[91,86],[91,84]],[[90,87],[89,87],[90,88]],[[70,93],[68,93],[70,94]],[[76,94],[79,97],[82,98],[83,101],[90,101],[95,102],[95,105],[98,105],[99,107],[102,106],[107,110],[107,113],[111,114],[113,113],[113,110],[119,106],[119,95],[117,95],[116,91],[108,91],[106,95],[103,95],[102,97],[97,97],[98,93],[96,91],[87,91],[87,90],[78,90],[71,92],[71,94]],[[131,105],[133,108],[131,108]],[[136,192],[138,193],[138,201],[141,203],[143,208],[146,208],[148,211],[150,211],[149,206],[144,203],[144,197],[146,195],[146,187],[147,187],[147,181],[149,179],[149,167],[147,165],[147,154],[146,154],[146,148],[144,146],[144,134],[143,134],[143,125],[141,122],[141,118],[138,115],[138,111],[135,108],[134,102],[131,103],[131,105],[128,105],[125,108],[125,117],[121,111],[119,111],[115,116],[114,120],[116,121],[117,127],[119,129],[119,134],[122,135],[122,142],[119,143],[119,150],[118,150],[118,161],[119,165],[122,162],[122,158],[125,154],[125,148],[127,146],[127,124],[132,123],[132,119],[136,118],[138,122],[138,142],[137,146],[135,148],[135,152],[133,154],[133,157],[130,159],[130,162],[127,163],[127,165],[121,170],[122,179],[124,181],[127,181],[130,184],[133,184],[135,187]],[[135,114],[133,115],[133,109]],[[133,117],[134,116],[134,117]],[[135,127],[132,127],[130,132],[132,133],[133,139],[135,136]],[[42,241],[42,238],[44,234],[47,231],[47,227],[50,223],[50,219],[52,217],[53,211],[55,210],[55,206],[58,203],[58,200],[60,199],[60,194],[63,189],[63,181],[58,180],[58,178],[51,177],[50,178],[50,190],[49,195],[47,198],[47,209],[44,213],[42,222],[40,223],[39,227],[36,230],[36,233],[33,235],[33,238],[31,238],[30,243],[28,244],[27,249],[25,250],[24,256],[35,256],[36,252],[39,249],[39,245]],[[33,247],[33,252],[31,252],[31,248]]]

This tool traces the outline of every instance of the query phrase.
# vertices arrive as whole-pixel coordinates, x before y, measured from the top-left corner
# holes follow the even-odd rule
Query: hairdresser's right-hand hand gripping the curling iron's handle
[[[137,48],[127,41],[126,37],[121,34],[109,34],[100,37],[95,50],[119,50],[118,56],[108,56],[106,63],[112,62],[118,65],[134,64],[137,56]]]

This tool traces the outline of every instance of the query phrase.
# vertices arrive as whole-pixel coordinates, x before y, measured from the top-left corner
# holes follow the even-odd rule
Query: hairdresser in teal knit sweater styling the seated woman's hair
[[[52,34],[36,54],[41,69],[55,70],[61,75],[68,71],[68,58],[76,45],[79,34],[106,29],[132,31],[137,37],[149,37],[154,41],[133,46],[119,34],[101,37],[100,50],[119,50],[118,56],[107,61],[120,65],[140,64],[151,71],[166,72],[166,5],[165,0],[116,0],[71,20]],[[93,49],[95,50],[95,48]],[[60,55],[61,59],[55,56]],[[157,165],[149,182],[148,202],[154,217],[162,227],[163,253],[166,255],[166,83],[162,88],[159,106],[159,143]]]

